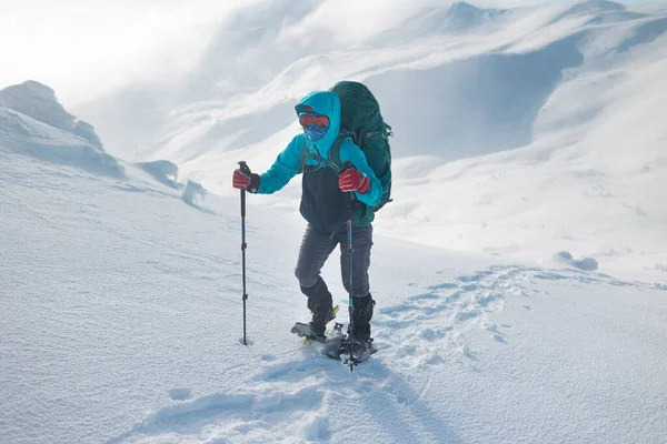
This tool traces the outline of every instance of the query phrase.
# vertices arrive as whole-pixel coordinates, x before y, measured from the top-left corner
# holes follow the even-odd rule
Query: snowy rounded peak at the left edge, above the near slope
[[[10,110],[76,134],[102,150],[102,142],[94,132],[94,128],[67,112],[58,102],[56,92],[46,84],[28,80],[21,84],[8,87],[0,91],[0,102]]]

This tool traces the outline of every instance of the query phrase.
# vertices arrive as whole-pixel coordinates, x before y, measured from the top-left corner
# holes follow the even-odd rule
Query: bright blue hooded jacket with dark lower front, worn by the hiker
[[[309,105],[317,113],[329,118],[329,129],[317,142],[305,133],[296,135],[282,151],[273,165],[260,176],[258,193],[271,194],[282,189],[291,178],[303,173],[301,214],[321,232],[332,232],[347,221],[346,195],[338,188],[339,167],[330,162],[329,150],[340,130],[340,100],[328,91],[315,91],[306,95],[296,107],[297,115]],[[368,225],[372,221],[372,208],[380,202],[382,185],[368,165],[366,154],[350,139],[340,145],[340,161],[351,163],[366,174],[370,188],[364,194],[355,192],[355,225]]]

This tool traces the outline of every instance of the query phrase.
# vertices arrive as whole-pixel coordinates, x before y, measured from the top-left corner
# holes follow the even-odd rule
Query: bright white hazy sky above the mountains
[[[261,1],[0,0],[0,88],[38,80],[72,107],[132,81],[173,78],[197,62],[216,27],[232,10],[261,8]],[[374,32],[366,20],[369,13],[386,26],[415,4],[434,2],[448,3],[326,0],[315,20],[329,26],[345,22],[345,37],[351,39],[355,30]],[[480,6],[538,2],[472,1]],[[364,23],[357,26],[355,20]]]

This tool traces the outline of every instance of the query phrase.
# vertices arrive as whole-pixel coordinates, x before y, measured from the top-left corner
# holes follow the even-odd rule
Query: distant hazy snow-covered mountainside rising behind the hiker
[[[299,131],[297,100],[362,80],[396,134],[395,203],[378,231],[534,264],[567,250],[616,275],[660,275],[665,9],[424,4],[356,34],[320,20],[331,2],[267,1],[221,23],[168,89],[137,84],[80,114],[117,155],[167,159],[231,195],[237,161],[262,171]],[[293,211],[298,188],[257,201]]]

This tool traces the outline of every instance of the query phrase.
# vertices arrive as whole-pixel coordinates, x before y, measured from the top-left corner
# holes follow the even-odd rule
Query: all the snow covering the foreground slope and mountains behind
[[[1,443],[667,442],[667,10],[397,3],[348,36],[344,3],[240,8],[169,88],[94,94],[107,151],[51,88],[0,92]],[[230,188],[340,78],[396,132],[355,372],[289,333],[299,181],[248,196],[241,344]]]

